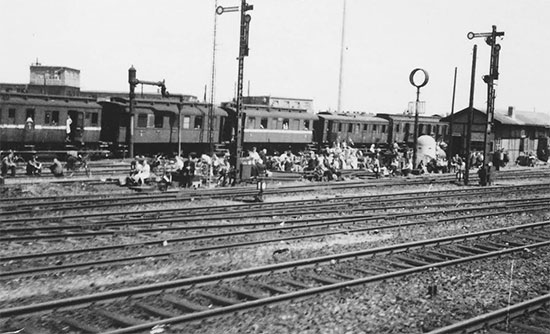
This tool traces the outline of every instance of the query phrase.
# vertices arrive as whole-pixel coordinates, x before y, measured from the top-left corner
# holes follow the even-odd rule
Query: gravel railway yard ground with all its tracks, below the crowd
[[[550,333],[548,166],[274,178],[259,203],[116,177],[0,186],[0,333]]]

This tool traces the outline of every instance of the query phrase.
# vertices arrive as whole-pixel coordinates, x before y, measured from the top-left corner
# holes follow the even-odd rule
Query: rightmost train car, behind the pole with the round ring
[[[413,114],[376,114],[389,121],[388,143],[400,143],[412,147],[414,143]],[[436,141],[447,140],[449,125],[441,121],[441,116],[418,116],[418,136],[429,135]]]

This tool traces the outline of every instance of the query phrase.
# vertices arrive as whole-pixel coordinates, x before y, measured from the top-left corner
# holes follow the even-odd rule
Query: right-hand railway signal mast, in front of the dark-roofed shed
[[[483,81],[487,84],[487,123],[485,126],[485,134],[483,137],[483,162],[487,166],[489,162],[489,149],[490,143],[489,135],[493,131],[493,124],[495,119],[495,81],[498,80],[498,59],[500,54],[500,44],[496,43],[497,37],[503,37],[503,31],[497,31],[497,26],[493,26],[491,32],[473,33],[469,32],[468,39],[474,39],[477,37],[484,37],[487,45],[491,47],[491,61],[489,64],[489,74],[483,76]],[[494,147],[492,148],[495,149]]]

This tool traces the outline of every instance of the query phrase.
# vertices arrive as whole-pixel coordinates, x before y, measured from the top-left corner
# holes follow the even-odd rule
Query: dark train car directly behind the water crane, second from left
[[[103,107],[101,140],[118,145],[129,143],[128,99],[112,97],[99,103]],[[182,152],[207,152],[210,146],[209,109],[209,104],[196,101],[135,99],[135,153],[177,152],[179,137],[181,137]],[[227,113],[218,107],[214,107],[212,112],[212,141],[219,143]],[[181,124],[179,130],[178,118]]]

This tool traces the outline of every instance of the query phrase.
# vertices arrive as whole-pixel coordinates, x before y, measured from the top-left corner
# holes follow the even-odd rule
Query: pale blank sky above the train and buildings
[[[315,110],[336,109],[343,0],[249,0],[254,10],[245,86],[251,95],[311,98]],[[239,5],[219,0],[219,5]],[[202,99],[210,89],[214,0],[2,1],[0,82],[28,83],[29,65],[81,70],[85,90],[127,91],[138,79],[166,79],[171,92]],[[342,107],[400,113],[416,96],[416,67],[430,82],[421,90],[428,114],[468,105],[471,55],[478,44],[475,105],[484,108],[489,46],[466,34],[506,35],[499,43],[497,108],[550,112],[550,1],[347,0]],[[239,15],[218,16],[216,102],[233,97]],[[149,91],[154,88],[148,88]],[[209,96],[209,95],[208,95]]]

